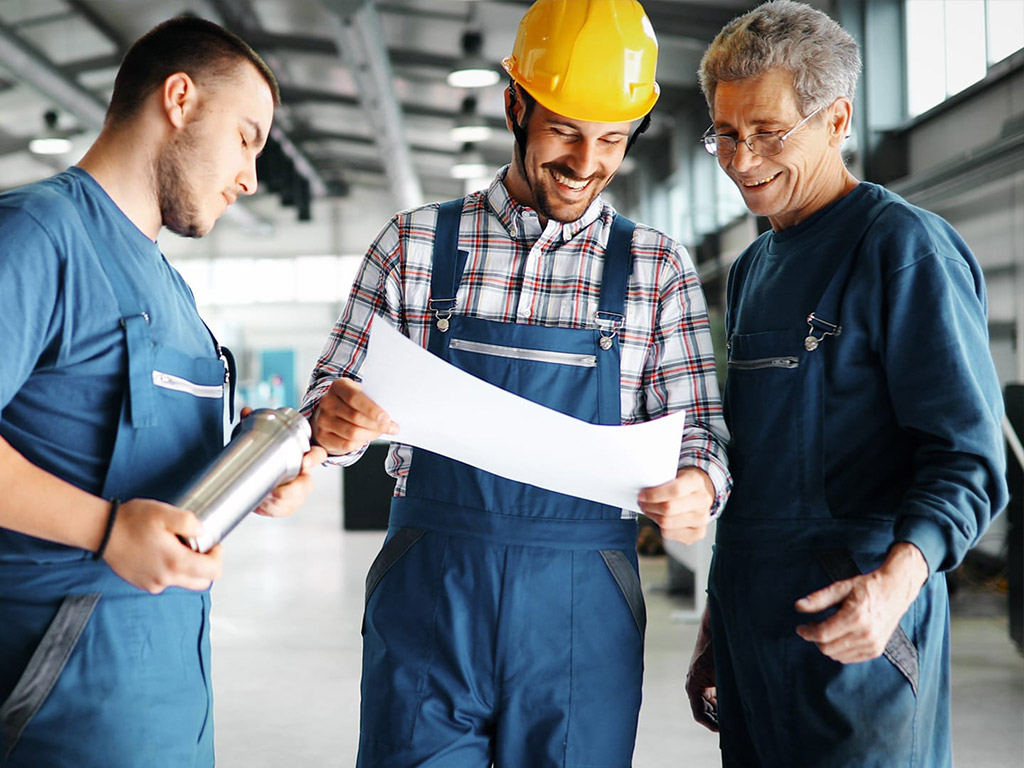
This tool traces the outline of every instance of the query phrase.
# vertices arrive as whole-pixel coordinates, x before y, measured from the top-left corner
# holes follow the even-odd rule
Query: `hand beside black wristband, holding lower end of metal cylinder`
[[[118,510],[103,560],[126,582],[154,595],[168,587],[209,589],[220,575],[220,547],[201,555],[178,539],[202,531],[199,518],[188,510],[132,499]]]

